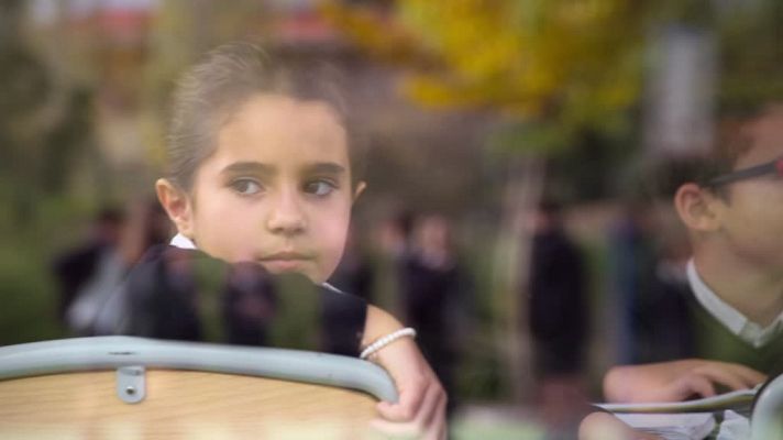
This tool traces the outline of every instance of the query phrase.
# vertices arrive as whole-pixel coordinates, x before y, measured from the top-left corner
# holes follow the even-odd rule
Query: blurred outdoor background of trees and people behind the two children
[[[648,359],[643,286],[682,282],[644,164],[783,95],[781,21],[776,0],[3,0],[0,344],[78,334],[95,263],[65,255],[166,240],[168,95],[250,40],[350,85],[368,190],[334,284],[419,329],[454,438],[551,437]]]

